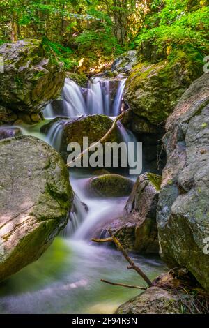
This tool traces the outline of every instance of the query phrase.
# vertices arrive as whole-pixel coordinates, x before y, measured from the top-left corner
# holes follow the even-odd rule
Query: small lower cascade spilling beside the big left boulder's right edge
[[[75,234],[76,230],[84,222],[87,213],[88,213],[88,208],[86,207],[86,204],[81,202],[79,197],[75,194],[68,224],[61,232],[61,235],[63,237],[71,237],[73,234]]]

